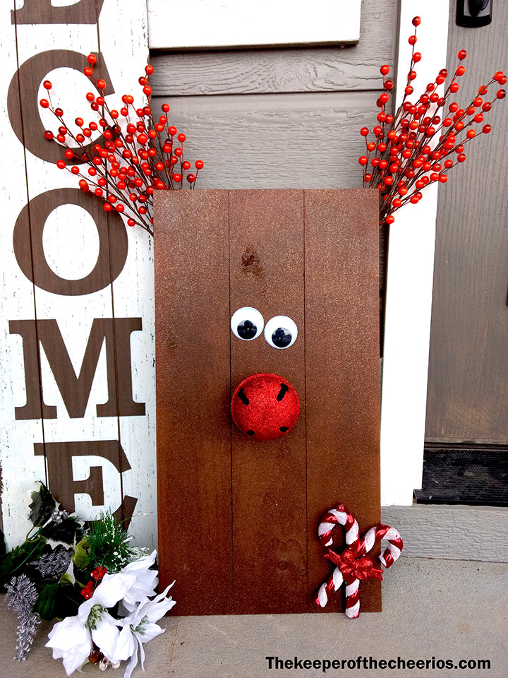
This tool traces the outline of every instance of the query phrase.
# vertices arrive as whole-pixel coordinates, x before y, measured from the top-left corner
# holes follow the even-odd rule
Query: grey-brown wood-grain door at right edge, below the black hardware
[[[448,63],[468,54],[464,101],[474,85],[506,69],[508,6],[478,30],[449,25]],[[466,90],[466,86],[464,86]],[[508,196],[506,106],[485,122],[492,133],[468,145],[464,172],[440,189],[426,438],[429,441],[508,441]]]

